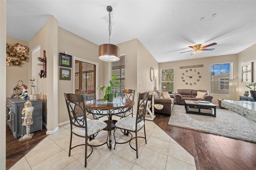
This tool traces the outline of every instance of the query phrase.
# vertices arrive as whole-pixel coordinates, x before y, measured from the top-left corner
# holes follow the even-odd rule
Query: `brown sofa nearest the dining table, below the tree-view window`
[[[162,96],[162,91],[160,90],[156,90],[156,91],[152,91],[152,93],[154,93],[154,104],[160,104],[163,105],[164,108],[161,110],[158,109],[154,109],[154,112],[157,113],[165,113],[170,115],[172,113],[172,109],[174,106],[174,95],[173,94],[169,94],[171,98],[169,99],[163,99]],[[151,97],[151,95],[150,95]],[[152,101],[152,99],[150,98],[150,100]]]

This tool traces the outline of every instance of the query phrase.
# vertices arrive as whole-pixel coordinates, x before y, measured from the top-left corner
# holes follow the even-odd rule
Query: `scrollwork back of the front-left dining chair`
[[[84,96],[76,95],[72,93],[64,93],[64,97],[65,97],[66,105],[68,109],[68,116],[70,119],[71,130],[72,130],[72,126],[87,129],[85,105],[84,104],[80,105],[80,103],[84,103]],[[87,136],[87,130],[86,130],[86,136]]]

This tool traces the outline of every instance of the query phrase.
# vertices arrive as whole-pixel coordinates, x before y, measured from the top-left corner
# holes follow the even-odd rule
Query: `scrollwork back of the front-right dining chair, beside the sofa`
[[[145,121],[148,98],[149,98],[149,92],[139,94],[137,115],[136,115],[136,130],[137,130],[137,124],[140,123],[141,121]]]

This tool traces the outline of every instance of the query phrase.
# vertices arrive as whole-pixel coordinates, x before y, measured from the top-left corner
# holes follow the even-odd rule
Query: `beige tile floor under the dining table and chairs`
[[[104,120],[106,117],[101,119]],[[118,120],[119,117],[113,117],[113,119]],[[103,145],[93,148],[92,155],[88,158],[88,166],[84,168],[84,146],[72,149],[71,156],[68,157],[70,125],[66,124],[60,126],[55,134],[48,135],[10,170],[196,170],[194,157],[175,140],[152,121],[146,121],[145,126],[147,144],[144,139],[138,138],[138,159],[136,152],[130,148],[129,142],[116,144],[115,150],[109,150],[106,145]],[[138,134],[144,136],[144,131],[141,130]],[[115,136],[118,142],[129,139],[120,130],[116,130]],[[106,141],[106,137],[107,132],[101,131],[89,142],[100,144]],[[114,140],[113,137],[112,140]],[[83,138],[73,135],[74,146],[84,142]],[[135,140],[131,143],[135,147]],[[88,153],[90,151],[89,148]]]

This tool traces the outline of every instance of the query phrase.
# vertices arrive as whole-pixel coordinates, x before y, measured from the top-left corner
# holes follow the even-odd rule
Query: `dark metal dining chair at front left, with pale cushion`
[[[76,95],[71,93],[64,93],[64,97],[66,100],[66,105],[68,109],[68,116],[70,120],[70,144],[68,156],[70,156],[70,152],[73,148],[77,146],[85,145],[85,158],[84,158],[84,167],[87,166],[87,158],[92,154],[93,148],[92,146],[102,146],[99,145],[91,145],[88,144],[87,140],[94,134],[98,133],[100,130],[106,129],[107,124],[103,121],[95,120],[95,119],[87,119],[86,118],[86,109],[84,105],[84,96]],[[83,103],[81,105],[81,103]],[[80,115],[79,113],[82,113]],[[80,115],[80,116],[78,116]],[[106,129],[107,130],[107,129]],[[71,147],[72,145],[72,135],[76,135],[82,138],[85,138],[85,144],[79,144]],[[87,146],[92,148],[91,153],[87,156]]]

